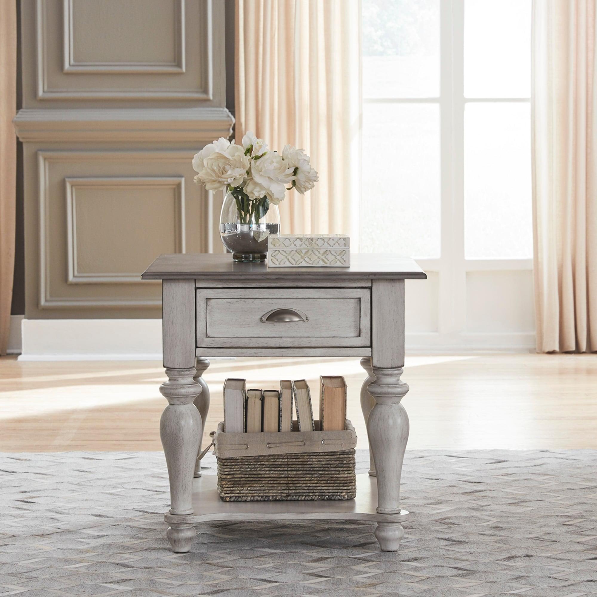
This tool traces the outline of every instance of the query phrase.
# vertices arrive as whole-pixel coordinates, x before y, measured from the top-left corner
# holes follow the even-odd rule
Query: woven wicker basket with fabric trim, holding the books
[[[356,433],[345,431],[224,433],[214,437],[218,493],[224,501],[352,500]]]

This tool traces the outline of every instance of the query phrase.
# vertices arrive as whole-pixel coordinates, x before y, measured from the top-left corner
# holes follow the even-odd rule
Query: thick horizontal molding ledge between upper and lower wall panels
[[[14,118],[21,141],[201,141],[232,134],[224,107],[21,109]]]

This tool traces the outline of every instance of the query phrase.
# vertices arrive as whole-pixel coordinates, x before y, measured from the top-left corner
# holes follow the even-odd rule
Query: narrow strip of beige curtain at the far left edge
[[[17,143],[17,3],[0,2],[0,355],[6,354],[13,299]]]

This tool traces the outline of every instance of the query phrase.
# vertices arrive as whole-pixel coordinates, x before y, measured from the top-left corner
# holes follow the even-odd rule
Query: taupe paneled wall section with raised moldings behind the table
[[[220,250],[193,154],[228,137],[221,0],[22,0],[27,319],[152,318],[159,253]]]

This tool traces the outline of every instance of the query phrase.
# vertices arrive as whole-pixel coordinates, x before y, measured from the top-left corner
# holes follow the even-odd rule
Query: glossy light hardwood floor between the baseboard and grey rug
[[[349,418],[367,447],[365,372],[353,358],[212,361],[205,438],[222,418],[226,377],[263,388],[304,377],[317,412],[320,374],[346,377]],[[597,448],[596,355],[411,356],[402,377],[408,448]],[[0,358],[0,451],[161,450],[164,380],[158,362]]]

